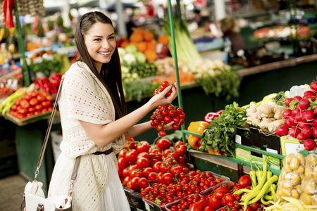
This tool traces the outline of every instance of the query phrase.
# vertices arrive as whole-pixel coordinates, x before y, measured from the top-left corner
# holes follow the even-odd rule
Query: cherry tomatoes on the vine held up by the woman
[[[170,87],[170,85],[171,84],[167,81],[161,82],[160,88],[155,89],[154,96],[161,93],[164,89]],[[170,96],[170,94],[172,94],[172,91],[168,91],[165,96],[168,97]],[[150,119],[151,127],[155,127],[156,130],[159,132],[159,136],[163,137],[166,136],[166,124],[169,124],[173,121],[171,127],[173,127],[173,129],[175,130],[178,129],[182,124],[184,124],[185,113],[183,112],[182,108],[174,106],[173,104],[163,105],[156,108]]]

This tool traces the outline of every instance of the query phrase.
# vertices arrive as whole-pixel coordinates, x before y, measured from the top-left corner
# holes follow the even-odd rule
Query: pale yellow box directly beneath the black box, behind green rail
[[[252,159],[252,163],[257,164],[263,164],[263,158],[266,157],[266,161],[269,167],[275,169],[275,170],[281,170],[282,169],[282,160],[279,158],[273,158],[268,155],[261,155],[259,153],[254,153],[251,151],[247,151],[242,148],[235,148],[235,158],[238,158],[240,160],[244,160],[246,162],[250,162]]]

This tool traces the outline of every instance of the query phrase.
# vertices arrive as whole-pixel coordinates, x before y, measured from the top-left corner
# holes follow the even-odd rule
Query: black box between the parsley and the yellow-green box
[[[237,127],[235,142],[251,146],[270,153],[280,154],[280,136],[266,134],[255,128]]]

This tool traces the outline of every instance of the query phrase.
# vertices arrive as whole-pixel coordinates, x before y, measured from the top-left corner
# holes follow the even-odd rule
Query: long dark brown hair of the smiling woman
[[[102,84],[104,84],[104,87],[106,87],[106,90],[113,101],[113,106],[116,110],[116,120],[118,120],[127,113],[122,86],[118,48],[116,47],[113,55],[111,56],[111,60],[102,65],[101,72],[99,74],[94,66],[94,60],[89,55],[85,44],[85,34],[87,34],[92,25],[97,22],[113,25],[110,18],[99,11],[85,13],[78,20],[75,30],[75,45],[78,50],[77,60],[86,63],[94,75],[96,75]]]

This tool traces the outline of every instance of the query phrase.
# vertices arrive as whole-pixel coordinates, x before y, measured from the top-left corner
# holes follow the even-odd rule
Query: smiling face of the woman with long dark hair
[[[102,64],[111,60],[116,49],[117,43],[113,26],[108,23],[95,23],[85,35],[85,44],[100,73]]]

